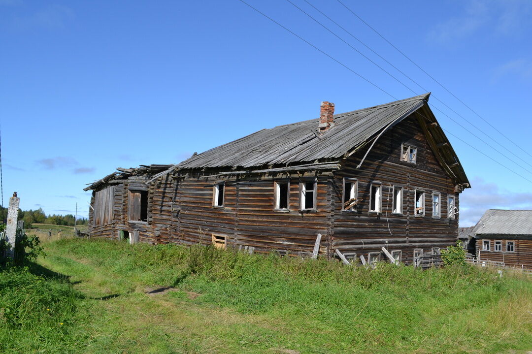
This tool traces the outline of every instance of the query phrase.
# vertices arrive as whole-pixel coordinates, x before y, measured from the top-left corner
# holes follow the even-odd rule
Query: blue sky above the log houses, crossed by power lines
[[[423,93],[304,0],[291,1]],[[461,225],[487,208],[532,209],[532,3],[342,1],[527,151],[336,0],[309,0],[433,92],[430,104],[446,130],[524,177],[448,135],[473,186],[461,195]],[[394,97],[414,96],[287,1],[246,2]],[[0,0],[0,16],[4,203],[17,191],[23,209],[66,214],[78,203],[86,216],[90,193],[82,188],[115,167],[177,163],[263,128],[318,117],[323,100],[337,113],[394,100],[239,0]]]

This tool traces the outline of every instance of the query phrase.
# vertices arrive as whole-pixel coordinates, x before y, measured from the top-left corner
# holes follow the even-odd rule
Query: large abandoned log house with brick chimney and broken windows
[[[458,197],[470,187],[428,98],[336,115],[322,102],[319,119],[177,165],[118,168],[86,188],[90,234],[287,255],[338,250],[369,263],[385,247],[412,263],[456,243]]]

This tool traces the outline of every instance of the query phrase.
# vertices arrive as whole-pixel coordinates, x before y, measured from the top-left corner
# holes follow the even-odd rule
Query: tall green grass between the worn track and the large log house
[[[366,269],[106,240],[62,240],[48,248],[139,284],[200,293],[194,301],[201,304],[267,316],[308,352],[532,349],[532,283],[490,269],[384,263]]]

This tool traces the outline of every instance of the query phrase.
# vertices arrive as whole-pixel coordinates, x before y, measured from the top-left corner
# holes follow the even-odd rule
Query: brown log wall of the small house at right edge
[[[506,237],[507,238],[507,237]],[[512,240],[509,239],[489,239],[490,251],[482,250],[482,240],[477,239],[476,256],[480,250],[480,260],[494,260],[495,262],[504,262],[507,266],[532,268],[532,240]],[[487,240],[487,238],[485,239]],[[502,241],[502,249],[504,251],[494,251],[494,241]],[[514,242],[514,252],[506,252],[506,241]]]

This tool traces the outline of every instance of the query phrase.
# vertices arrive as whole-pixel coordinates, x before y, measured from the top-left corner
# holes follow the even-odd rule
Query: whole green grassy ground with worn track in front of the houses
[[[532,350],[532,282],[519,275],[500,278],[469,266],[422,272],[382,264],[371,270],[320,259],[106,240],[60,240],[45,243],[45,250],[33,273],[51,269],[68,277],[41,281],[62,293],[54,297],[57,305],[40,300],[31,305],[32,318],[51,316],[46,307],[55,311],[59,304],[71,305],[31,325],[6,326],[0,318],[0,351]],[[174,288],[146,294],[168,286]],[[13,289],[12,283],[0,283],[0,308],[14,296]],[[21,296],[30,300],[38,291],[19,291],[26,292]],[[25,311],[26,305],[11,307]],[[39,328],[46,328],[41,336]]]

